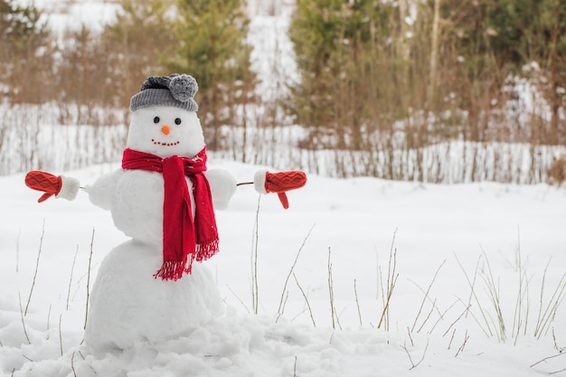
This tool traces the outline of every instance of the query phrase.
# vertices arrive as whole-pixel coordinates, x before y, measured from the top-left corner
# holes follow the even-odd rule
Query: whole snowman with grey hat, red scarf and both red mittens
[[[202,263],[219,247],[214,211],[228,206],[236,181],[206,169],[203,128],[192,76],[146,79],[130,101],[132,111],[122,166],[81,187],[70,176],[33,171],[26,184],[73,200],[80,189],[112,214],[130,239],[108,252],[90,294],[85,343],[92,352],[126,350],[188,335],[223,315],[212,273]],[[259,193],[286,192],[306,183],[302,172],[258,171]]]

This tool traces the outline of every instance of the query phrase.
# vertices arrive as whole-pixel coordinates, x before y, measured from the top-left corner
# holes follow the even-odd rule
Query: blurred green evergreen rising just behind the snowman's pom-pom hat
[[[211,149],[221,147],[220,127],[233,125],[236,107],[250,101],[255,75],[250,71],[250,20],[242,0],[178,0],[176,59],[172,71],[193,75],[196,100]]]

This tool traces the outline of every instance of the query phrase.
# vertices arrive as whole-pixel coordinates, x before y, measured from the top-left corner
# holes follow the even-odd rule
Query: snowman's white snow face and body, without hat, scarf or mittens
[[[193,111],[174,106],[138,108],[127,147],[162,158],[195,156],[204,147]],[[214,209],[226,207],[236,184],[225,171],[205,173]],[[185,177],[194,199],[191,181]],[[90,294],[85,342],[95,351],[126,349],[190,332],[215,316],[223,303],[212,274],[194,262],[178,280],[154,278],[163,261],[164,178],[156,172],[118,169],[85,188],[90,201],[112,213],[118,230],[131,240],[108,253]]]

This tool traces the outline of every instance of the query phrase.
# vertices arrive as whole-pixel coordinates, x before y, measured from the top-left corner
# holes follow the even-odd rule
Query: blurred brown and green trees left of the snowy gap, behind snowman
[[[34,5],[0,0],[0,87],[12,103],[56,102],[87,124],[95,108],[124,108],[149,75],[190,72],[199,82],[201,117],[217,129],[253,100],[249,19],[241,0],[121,2],[101,33],[86,27],[54,35]],[[99,112],[96,112],[99,114]],[[212,137],[209,143],[214,144]]]

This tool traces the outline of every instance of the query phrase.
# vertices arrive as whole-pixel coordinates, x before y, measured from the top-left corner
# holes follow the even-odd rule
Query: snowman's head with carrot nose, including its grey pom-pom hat
[[[189,75],[152,76],[132,97],[127,147],[162,158],[193,157],[204,147],[203,127]]]

